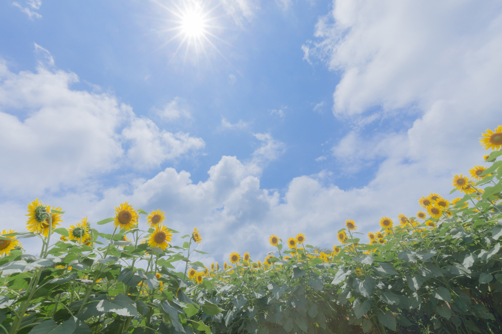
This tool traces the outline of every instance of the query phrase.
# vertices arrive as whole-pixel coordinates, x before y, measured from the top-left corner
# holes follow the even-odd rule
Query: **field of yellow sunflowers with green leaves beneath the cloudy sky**
[[[263,260],[194,262],[200,232],[175,239],[161,210],[125,202],[64,228],[62,209],[36,199],[29,232],[0,235],[0,332],[500,333],[502,126],[481,144],[491,152],[453,177],[453,201],[424,196],[418,213],[382,217],[368,243],[348,219],[329,251],[271,235]],[[113,233],[99,232],[108,223]],[[33,237],[39,256],[21,245]]]

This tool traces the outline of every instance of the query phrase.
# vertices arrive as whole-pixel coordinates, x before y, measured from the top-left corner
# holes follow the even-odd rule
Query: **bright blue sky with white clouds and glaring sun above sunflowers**
[[[331,248],[455,197],[502,124],[499,1],[3,0],[0,30],[0,229],[129,201],[206,264]]]

